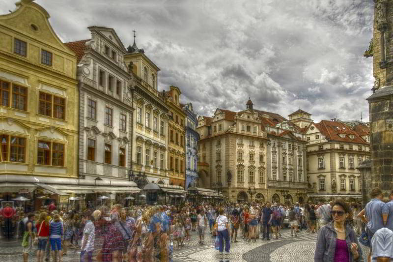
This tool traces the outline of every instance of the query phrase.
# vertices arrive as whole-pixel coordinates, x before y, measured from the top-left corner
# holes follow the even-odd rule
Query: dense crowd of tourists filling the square
[[[170,261],[173,249],[182,249],[191,232],[197,232],[200,245],[214,243],[219,254],[230,254],[230,245],[239,238],[247,242],[280,239],[284,227],[290,228],[294,239],[302,230],[318,233],[315,261],[357,261],[361,258],[359,236],[366,232],[371,243],[377,231],[389,224],[386,210],[390,208],[393,214],[392,205],[382,205],[377,193],[365,209],[359,203],[341,201],[103,204],[67,212],[51,206],[28,213],[18,231],[25,261],[32,252],[36,252],[37,262],[61,262],[71,252],[79,252],[82,262]],[[393,200],[393,194],[391,197]],[[377,206],[381,207],[381,220],[375,222]],[[334,244],[332,239],[336,239]],[[342,256],[342,260],[335,260],[335,256]]]

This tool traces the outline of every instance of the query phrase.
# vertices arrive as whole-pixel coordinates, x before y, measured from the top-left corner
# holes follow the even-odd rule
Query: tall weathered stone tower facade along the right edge
[[[393,189],[393,0],[374,0],[373,94],[367,98],[371,125],[371,187],[385,197]]]

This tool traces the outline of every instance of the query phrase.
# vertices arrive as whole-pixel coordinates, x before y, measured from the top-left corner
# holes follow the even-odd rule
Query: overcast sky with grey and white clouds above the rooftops
[[[198,115],[217,107],[321,119],[368,120],[373,86],[371,0],[36,0],[63,41],[112,27],[161,68],[159,89],[180,87]],[[1,13],[14,9],[0,0]]]

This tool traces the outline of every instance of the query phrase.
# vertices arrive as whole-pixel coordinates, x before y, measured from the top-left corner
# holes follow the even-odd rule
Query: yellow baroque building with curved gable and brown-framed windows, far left
[[[0,16],[0,198],[57,202],[66,194],[51,184],[78,183],[77,58],[44,8],[16,6]]]

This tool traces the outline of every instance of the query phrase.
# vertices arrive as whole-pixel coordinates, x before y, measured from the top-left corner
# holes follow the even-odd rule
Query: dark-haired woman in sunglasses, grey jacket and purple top
[[[356,234],[345,223],[349,214],[344,202],[336,201],[332,205],[333,221],[318,233],[314,262],[363,262]]]

